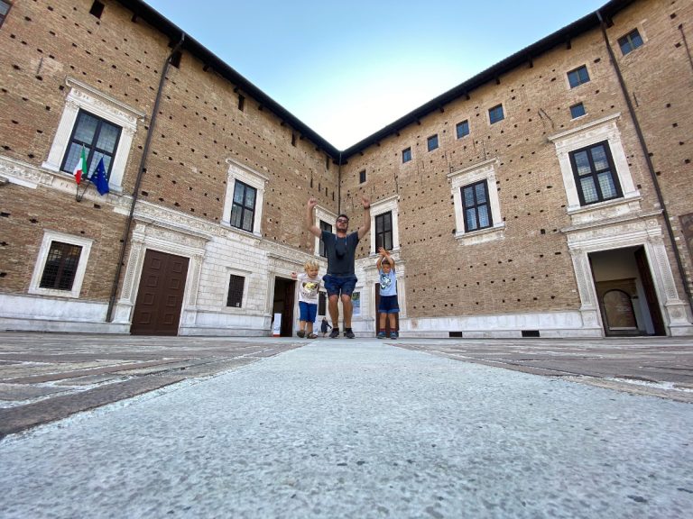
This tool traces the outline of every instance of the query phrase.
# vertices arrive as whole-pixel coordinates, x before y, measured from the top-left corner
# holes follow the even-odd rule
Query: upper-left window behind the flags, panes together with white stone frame
[[[70,91],[42,168],[71,177],[84,144],[91,159],[89,171],[97,167],[103,156],[111,193],[122,192],[137,121],[144,119],[144,113],[73,77],[67,77],[65,82]]]

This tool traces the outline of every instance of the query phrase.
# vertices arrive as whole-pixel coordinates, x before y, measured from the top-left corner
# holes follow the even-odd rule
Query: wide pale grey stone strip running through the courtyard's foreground
[[[693,406],[313,341],[0,442],[3,519],[683,519]]]

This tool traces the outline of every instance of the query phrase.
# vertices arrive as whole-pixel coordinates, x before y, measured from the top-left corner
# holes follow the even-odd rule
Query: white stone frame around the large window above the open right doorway
[[[595,211],[605,205],[620,205],[629,203],[633,199],[640,198],[640,192],[635,187],[631,169],[628,166],[624,145],[621,141],[621,133],[618,131],[616,120],[621,116],[620,113],[607,115],[591,123],[586,123],[566,132],[560,132],[549,137],[556,147],[556,154],[559,158],[560,173],[563,177],[563,186],[568,197],[568,214],[576,214],[585,211]],[[577,194],[577,183],[573,167],[570,164],[570,153],[592,146],[597,142],[606,141],[609,144],[611,157],[614,159],[614,174],[621,184],[621,191],[624,194],[621,198],[605,200],[596,204],[580,205],[580,198]]]

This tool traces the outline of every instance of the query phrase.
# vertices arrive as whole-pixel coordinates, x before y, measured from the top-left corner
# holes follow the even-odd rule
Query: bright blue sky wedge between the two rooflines
[[[345,150],[607,0],[145,0]]]

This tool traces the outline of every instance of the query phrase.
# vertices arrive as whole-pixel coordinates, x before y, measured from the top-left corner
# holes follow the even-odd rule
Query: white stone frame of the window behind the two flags
[[[79,110],[96,115],[120,127],[120,139],[113,157],[113,167],[108,178],[108,187],[115,193],[123,192],[125,166],[132,149],[134,133],[137,132],[137,121],[144,119],[143,112],[132,106],[121,103],[115,97],[108,96],[86,83],[67,77],[65,83],[70,87],[65,98],[65,106],[60,115],[60,123],[53,137],[48,158],[42,163],[42,168],[72,177],[71,173],[60,171],[60,164],[68,151],[69,137],[77,123]]]

